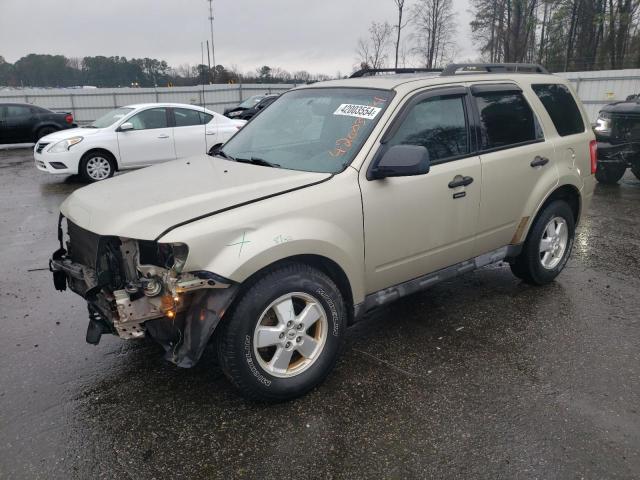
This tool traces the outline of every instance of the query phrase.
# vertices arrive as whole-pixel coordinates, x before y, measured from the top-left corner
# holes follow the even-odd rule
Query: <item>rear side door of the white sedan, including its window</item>
[[[212,115],[191,108],[173,108],[173,142],[176,157],[184,158],[207,153],[207,136],[215,137],[215,124],[205,125]]]

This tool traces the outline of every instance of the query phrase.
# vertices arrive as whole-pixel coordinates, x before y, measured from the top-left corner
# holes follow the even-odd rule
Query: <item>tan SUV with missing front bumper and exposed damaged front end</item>
[[[150,336],[180,367],[214,341],[246,396],[278,401],[318,385],[381,305],[501,260],[552,281],[595,185],[567,81],[387,73],[291,90],[214,156],[73,193],[50,267],[86,299],[87,341]]]

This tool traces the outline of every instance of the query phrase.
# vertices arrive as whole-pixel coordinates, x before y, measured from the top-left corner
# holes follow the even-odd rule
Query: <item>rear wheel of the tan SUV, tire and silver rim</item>
[[[551,282],[569,259],[574,235],[575,219],[569,205],[562,200],[551,202],[536,218],[511,271],[534,285]]]

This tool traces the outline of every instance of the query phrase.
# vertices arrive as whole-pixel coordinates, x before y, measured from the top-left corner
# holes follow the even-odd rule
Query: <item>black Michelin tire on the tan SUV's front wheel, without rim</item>
[[[309,330],[304,329],[303,333],[309,333],[312,331],[311,329],[318,328],[315,325],[323,324],[326,328],[326,334],[324,343],[318,342],[323,346],[317,351],[315,360],[299,373],[283,378],[270,373],[261,365],[261,362],[272,360],[273,357],[271,359],[264,358],[260,350],[256,352],[254,349],[255,332],[261,318],[268,318],[270,314],[267,313],[263,317],[263,313],[272,311],[267,310],[272,302],[294,292],[309,295],[325,312],[325,323],[317,320],[313,324],[314,326],[309,327]],[[294,315],[296,319],[300,318],[298,317],[299,311],[295,311]],[[276,319],[275,316],[272,318]],[[329,277],[305,264],[284,264],[245,287],[240,297],[234,302],[231,311],[228,312],[219,327],[220,332],[217,335],[218,361],[226,376],[248,399],[263,402],[291,400],[320,384],[331,372],[343,345],[346,319],[342,295]],[[276,323],[275,326],[278,327],[278,325],[282,324]],[[287,327],[284,328],[284,332],[287,333],[285,333],[282,342],[287,341],[289,333],[291,330],[295,330],[295,326],[289,327],[290,330],[287,330]],[[297,335],[295,331],[293,333]],[[315,330],[315,334],[317,333],[318,330]],[[310,333],[310,335],[313,334]],[[280,342],[280,340],[276,341]],[[266,351],[268,356],[268,350],[273,348],[275,356],[275,350],[282,349],[283,345],[273,345],[262,350]],[[296,348],[294,344],[290,350]],[[306,361],[300,353],[297,353],[297,350],[290,358],[293,360],[296,358],[296,354],[302,358],[303,362]],[[256,355],[260,355],[262,358],[258,359]],[[299,360],[297,359],[297,361]],[[292,363],[287,361],[286,363],[287,368],[295,364],[296,361],[292,361]]]

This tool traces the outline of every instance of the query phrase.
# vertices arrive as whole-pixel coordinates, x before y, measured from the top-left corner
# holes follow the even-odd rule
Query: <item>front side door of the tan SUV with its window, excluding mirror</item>
[[[463,87],[418,94],[387,131],[380,148],[422,145],[429,152],[430,171],[367,180],[366,169],[361,170],[367,293],[472,256],[481,167],[473,153],[469,111]],[[471,178],[471,183],[452,183],[463,177]]]

